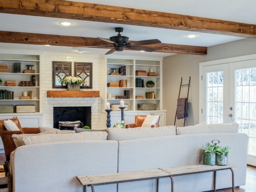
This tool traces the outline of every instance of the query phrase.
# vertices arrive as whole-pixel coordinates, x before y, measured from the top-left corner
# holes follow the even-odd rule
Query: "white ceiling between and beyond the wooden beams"
[[[114,5],[146,10],[154,10],[169,13],[186,14],[198,17],[220,19],[241,23],[256,24],[255,0],[76,0],[80,2]],[[157,2],[157,3],[156,3]],[[61,21],[70,21],[73,25],[64,27],[59,24]],[[180,30],[160,29],[153,27],[141,27],[131,25],[120,25],[101,22],[90,22],[80,20],[67,20],[58,18],[35,17],[27,15],[15,15],[0,13],[0,30],[17,31],[28,33],[43,33],[55,35],[70,35],[82,37],[109,38],[117,33],[115,27],[123,27],[123,36],[130,40],[159,39],[162,43],[185,44],[198,46],[212,46],[242,39],[242,37],[216,35]],[[196,34],[194,39],[186,37],[188,34]],[[51,52],[78,53],[72,47],[44,45],[25,45],[15,43],[0,43],[3,49],[26,49],[42,50]],[[85,48],[83,54],[104,54],[106,49]],[[138,51],[115,52],[113,55],[140,55],[165,57],[169,53],[141,53]]]

